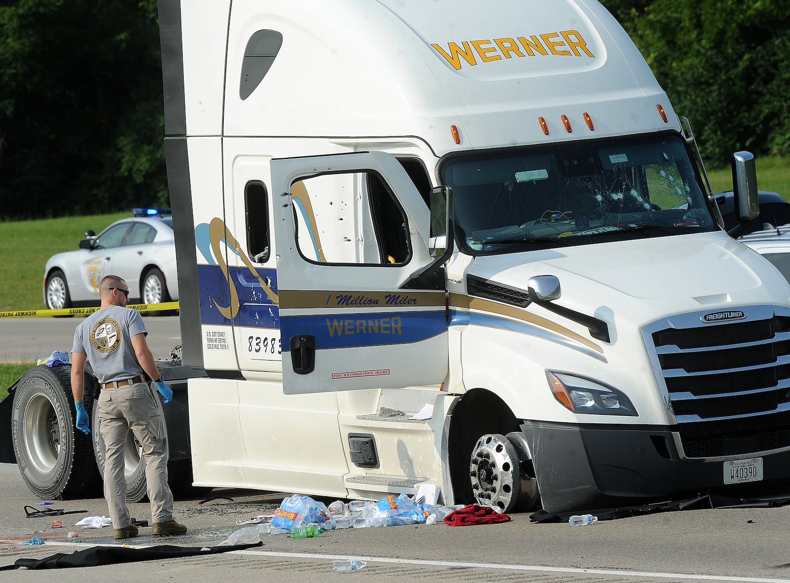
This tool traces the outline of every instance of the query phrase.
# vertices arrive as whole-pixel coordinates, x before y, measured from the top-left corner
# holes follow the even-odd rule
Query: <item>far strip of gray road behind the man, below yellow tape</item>
[[[55,350],[70,351],[74,328],[81,321],[73,318],[0,318],[0,362],[35,362]],[[178,316],[143,315],[148,328],[148,344],[155,358],[169,358],[181,344]]]

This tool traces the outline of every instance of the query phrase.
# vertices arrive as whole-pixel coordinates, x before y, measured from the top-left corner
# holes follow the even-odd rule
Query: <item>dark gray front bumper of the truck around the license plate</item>
[[[723,460],[681,458],[668,427],[564,425],[527,421],[521,431],[544,510],[635,506],[710,492],[730,497],[790,491],[790,451],[762,458],[763,479],[724,484]]]

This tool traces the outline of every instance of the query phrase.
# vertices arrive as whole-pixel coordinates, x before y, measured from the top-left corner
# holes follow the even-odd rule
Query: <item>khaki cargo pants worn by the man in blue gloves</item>
[[[173,495],[167,486],[167,429],[162,404],[147,383],[136,383],[99,394],[99,429],[107,455],[104,462],[104,498],[112,525],[126,528],[131,522],[126,506],[124,450],[131,429],[145,458],[145,479],[151,501],[151,521],[173,518]]]

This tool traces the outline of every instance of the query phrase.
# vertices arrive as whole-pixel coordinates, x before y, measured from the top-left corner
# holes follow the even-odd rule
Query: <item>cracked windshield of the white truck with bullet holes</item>
[[[474,255],[717,230],[683,141],[596,140],[449,159]]]

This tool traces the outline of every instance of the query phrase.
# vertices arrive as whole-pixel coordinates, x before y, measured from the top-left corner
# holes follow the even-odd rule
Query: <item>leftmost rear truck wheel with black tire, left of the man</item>
[[[11,432],[17,465],[28,488],[43,500],[82,494],[98,480],[90,435],[74,427],[77,412],[70,375],[66,364],[30,368],[13,397]],[[85,391],[83,403],[90,412],[90,391]]]

